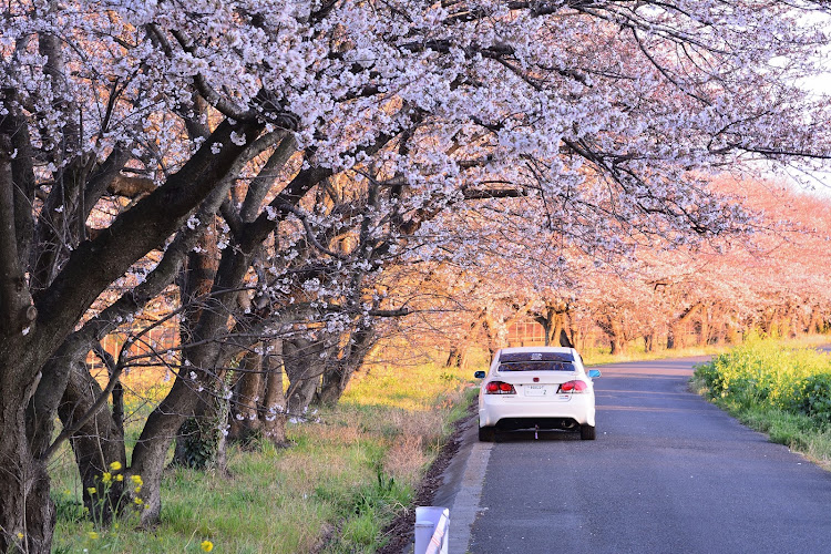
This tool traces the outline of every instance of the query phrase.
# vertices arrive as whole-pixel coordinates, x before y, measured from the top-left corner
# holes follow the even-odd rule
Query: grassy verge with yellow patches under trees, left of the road
[[[232,447],[230,478],[168,470],[161,523],[152,531],[137,531],[134,522],[102,530],[85,520],[64,448],[51,464],[54,552],[202,552],[205,540],[213,552],[375,552],[383,527],[412,501],[452,421],[465,413],[474,369],[370,367],[356,375],[337,408],[316,416],[318,422],[289,425],[291,448]]]

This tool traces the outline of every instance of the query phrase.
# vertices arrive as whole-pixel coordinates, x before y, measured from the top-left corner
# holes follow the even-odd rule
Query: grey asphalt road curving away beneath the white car
[[[451,554],[831,553],[831,472],[688,392],[694,361],[599,368],[596,441],[474,443]]]

